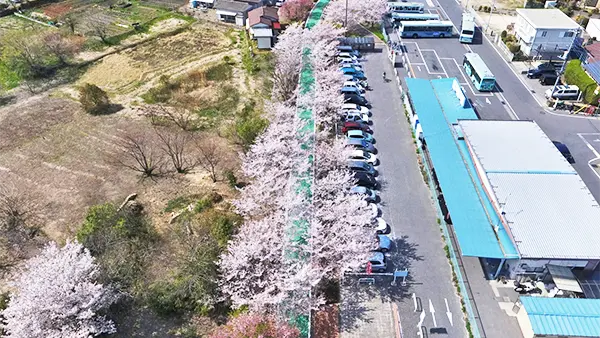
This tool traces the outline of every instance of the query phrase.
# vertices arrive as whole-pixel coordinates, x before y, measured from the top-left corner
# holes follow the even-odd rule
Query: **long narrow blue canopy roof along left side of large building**
[[[467,169],[469,160],[465,163],[458,140],[451,129],[451,125],[458,119],[477,119],[473,108],[460,106],[452,90],[453,81],[454,79],[406,78],[406,85],[413,107],[419,115],[427,149],[452,217],[461,253],[464,256],[487,258],[505,258],[507,255],[514,257],[516,249],[510,238],[508,243],[504,243],[506,238],[500,239],[508,249],[503,252],[500,247],[486,215],[486,202],[480,200],[485,200],[485,195],[478,195],[479,188],[473,183]],[[469,156],[466,158],[469,159]],[[494,218],[492,222],[493,220]]]

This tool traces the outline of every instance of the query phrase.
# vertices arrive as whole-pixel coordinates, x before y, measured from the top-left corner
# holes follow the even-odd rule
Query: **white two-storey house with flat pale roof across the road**
[[[515,35],[526,56],[562,56],[579,33],[579,25],[557,8],[517,9]]]

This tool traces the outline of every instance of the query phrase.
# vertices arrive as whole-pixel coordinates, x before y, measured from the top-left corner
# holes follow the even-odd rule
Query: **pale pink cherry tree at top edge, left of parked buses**
[[[334,0],[324,11],[325,20],[343,25],[348,4],[348,26],[373,25],[381,21],[386,12],[386,0]]]

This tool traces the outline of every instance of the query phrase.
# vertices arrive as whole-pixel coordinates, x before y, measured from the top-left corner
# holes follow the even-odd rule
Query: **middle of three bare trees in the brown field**
[[[171,132],[165,129],[155,129],[160,139],[161,148],[171,159],[171,164],[178,173],[185,174],[196,166],[196,162],[189,156],[192,135],[188,132]]]

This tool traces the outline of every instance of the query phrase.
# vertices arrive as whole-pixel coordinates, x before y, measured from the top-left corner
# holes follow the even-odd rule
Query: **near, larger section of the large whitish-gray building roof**
[[[579,175],[487,176],[521,257],[600,258],[600,206]]]

